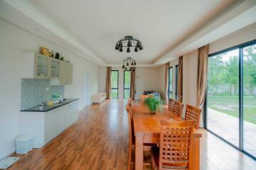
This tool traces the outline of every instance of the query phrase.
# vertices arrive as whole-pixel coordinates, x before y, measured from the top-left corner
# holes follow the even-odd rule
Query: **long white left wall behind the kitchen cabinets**
[[[73,63],[73,84],[65,86],[66,98],[80,98],[81,109],[90,104],[90,94],[98,91],[99,67],[96,64],[0,18],[0,159],[14,152],[14,140],[18,135],[21,52],[38,52],[41,46],[64,53]]]

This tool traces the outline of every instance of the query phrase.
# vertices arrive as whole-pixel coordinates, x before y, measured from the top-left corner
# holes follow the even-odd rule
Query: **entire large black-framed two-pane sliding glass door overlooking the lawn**
[[[256,40],[209,55],[206,129],[256,158]]]

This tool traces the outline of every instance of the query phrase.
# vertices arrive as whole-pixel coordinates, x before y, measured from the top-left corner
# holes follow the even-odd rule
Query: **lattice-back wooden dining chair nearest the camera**
[[[153,169],[192,170],[192,141],[195,120],[161,120],[160,147],[152,147]],[[195,170],[195,169],[193,169]]]

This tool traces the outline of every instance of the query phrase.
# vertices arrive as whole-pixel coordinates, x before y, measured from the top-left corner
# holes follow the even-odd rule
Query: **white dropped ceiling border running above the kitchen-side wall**
[[[35,33],[36,35],[43,37],[46,40],[49,40],[50,42],[60,45],[61,47],[64,46],[65,49],[75,52],[75,54],[80,55],[80,57],[84,57],[85,59],[90,60],[95,64],[106,64],[100,57],[98,57],[95,54],[95,52],[92,52],[92,50],[83,45],[73,35],[68,33],[68,31],[61,28],[60,26],[58,26],[58,24],[56,24],[46,15],[41,13],[41,11],[38,11],[38,9],[29,4],[28,1],[3,0],[0,3],[0,15],[7,21],[11,21],[11,23],[15,23],[21,28],[29,30]],[[23,15],[23,18],[25,19],[25,21],[23,20],[22,23],[18,21],[18,18],[21,18],[21,15]],[[33,25],[38,26],[40,28],[40,32],[36,31],[34,28],[29,29],[26,26],[24,26],[26,23],[31,23],[31,21],[34,22]],[[52,34],[52,36],[44,36],[43,33],[45,33],[45,31],[49,31]],[[59,40],[55,40],[56,36]],[[65,43],[61,42],[60,39],[64,40]]]

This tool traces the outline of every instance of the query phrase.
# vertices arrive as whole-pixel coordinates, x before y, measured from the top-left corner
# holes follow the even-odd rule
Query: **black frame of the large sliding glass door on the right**
[[[206,102],[205,102],[205,106],[204,106],[204,113],[203,113],[203,125],[204,128],[206,130],[208,130],[210,133],[212,133],[213,135],[217,136],[218,138],[220,138],[220,140],[223,140],[225,142],[227,142],[229,145],[235,147],[235,149],[238,149],[240,152],[247,154],[247,156],[251,157],[252,159],[256,160],[256,157],[254,157],[252,154],[248,153],[247,151],[244,150],[244,119],[243,119],[243,48],[248,47],[250,45],[256,45],[256,40],[251,40],[249,42],[245,42],[243,44],[240,45],[236,45],[234,47],[229,47],[225,50],[221,50],[219,52],[214,52],[210,55],[208,55],[208,57],[213,57],[215,55],[219,55],[221,53],[224,52],[229,52],[231,50],[239,50],[239,147],[233,145],[232,143],[228,142],[228,140],[225,140],[223,137],[220,137],[220,135],[216,134],[215,132],[211,131],[208,129],[208,122],[207,122],[207,89],[206,89]]]

